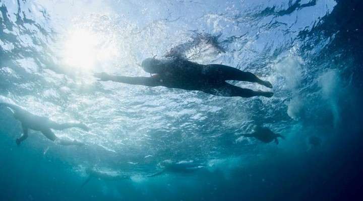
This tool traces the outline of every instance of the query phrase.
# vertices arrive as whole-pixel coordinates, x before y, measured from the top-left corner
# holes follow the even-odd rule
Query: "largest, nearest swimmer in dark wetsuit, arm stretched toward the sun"
[[[272,92],[254,91],[227,83],[226,80],[249,81],[272,88],[270,82],[259,79],[253,73],[244,72],[230,66],[220,64],[202,65],[182,57],[169,57],[163,60],[145,59],[142,62],[142,68],[154,75],[150,77],[128,77],[108,75],[103,72],[95,73],[95,76],[100,81],[110,80],[127,84],[199,90],[221,96],[271,97],[273,95]]]

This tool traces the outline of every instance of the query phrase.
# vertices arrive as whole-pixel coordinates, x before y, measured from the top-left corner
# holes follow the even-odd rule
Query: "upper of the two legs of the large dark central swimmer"
[[[272,88],[272,84],[269,81],[264,81],[258,78],[255,74],[251,72],[241,71],[237,68],[233,68],[221,64],[210,64],[212,67],[211,71],[218,74],[222,80],[237,80],[237,81],[249,81],[262,84],[266,87]]]

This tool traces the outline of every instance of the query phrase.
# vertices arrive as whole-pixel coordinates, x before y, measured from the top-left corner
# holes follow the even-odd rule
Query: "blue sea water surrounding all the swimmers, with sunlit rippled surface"
[[[359,200],[362,7],[360,0],[0,1],[0,101],[90,127],[55,132],[81,147],[35,131],[17,146],[21,125],[0,108],[0,200]],[[92,76],[148,76],[143,59],[196,39],[203,40],[188,59],[256,73],[274,96]],[[238,136],[256,125],[286,140]],[[207,166],[147,177],[165,160]],[[92,178],[81,187],[87,168],[131,180]]]

